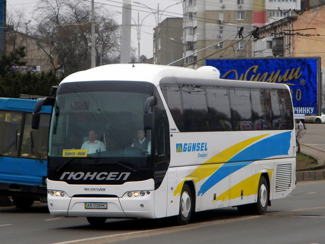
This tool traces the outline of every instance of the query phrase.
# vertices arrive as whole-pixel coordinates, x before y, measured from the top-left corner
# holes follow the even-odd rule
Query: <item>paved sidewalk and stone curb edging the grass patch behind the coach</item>
[[[296,171],[296,180],[297,181],[313,181],[313,180],[323,180],[325,179],[325,152],[312,148],[310,146],[306,146],[300,143],[300,151],[301,153],[312,156],[318,162],[318,165],[313,168],[308,169],[298,169]]]

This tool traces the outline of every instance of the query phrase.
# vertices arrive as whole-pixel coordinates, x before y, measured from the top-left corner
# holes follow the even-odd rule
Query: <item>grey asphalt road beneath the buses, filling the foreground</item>
[[[44,203],[30,211],[0,207],[0,243],[325,243],[325,180],[299,182],[292,194],[272,201],[263,216],[241,216],[236,208],[197,213],[186,226],[172,220],[53,218]]]

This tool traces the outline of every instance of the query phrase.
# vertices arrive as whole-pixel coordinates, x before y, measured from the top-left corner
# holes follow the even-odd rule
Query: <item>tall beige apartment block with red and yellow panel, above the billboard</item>
[[[253,57],[251,32],[256,27],[291,16],[302,5],[309,5],[307,1],[184,0],[183,57],[188,56],[184,63],[197,61],[190,65],[196,69],[205,64],[206,57]],[[242,40],[236,37],[241,27],[245,37]],[[215,43],[218,44],[213,45]],[[208,46],[211,47],[199,51]]]

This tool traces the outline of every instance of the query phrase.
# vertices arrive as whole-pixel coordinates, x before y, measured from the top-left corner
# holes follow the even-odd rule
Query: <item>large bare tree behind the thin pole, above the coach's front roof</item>
[[[38,22],[34,36],[55,71],[63,70],[66,76],[90,68],[91,7],[88,2],[41,0],[34,14]],[[101,59],[107,63],[119,54],[119,25],[103,7],[95,9],[95,19],[96,63]]]

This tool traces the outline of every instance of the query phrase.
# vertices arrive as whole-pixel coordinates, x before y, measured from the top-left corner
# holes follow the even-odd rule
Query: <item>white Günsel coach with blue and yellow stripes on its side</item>
[[[33,115],[37,128],[38,110],[53,106],[50,213],[187,224],[192,212],[230,206],[263,214],[286,197],[296,154],[289,88],[219,76],[210,66],[111,64],[66,77]]]

